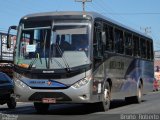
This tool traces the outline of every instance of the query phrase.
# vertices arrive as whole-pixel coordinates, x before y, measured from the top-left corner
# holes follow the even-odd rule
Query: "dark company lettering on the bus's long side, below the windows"
[[[124,69],[124,62],[122,61],[111,61],[109,64],[110,69]]]

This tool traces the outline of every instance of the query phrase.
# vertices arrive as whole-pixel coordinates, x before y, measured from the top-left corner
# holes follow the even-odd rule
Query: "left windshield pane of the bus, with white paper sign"
[[[23,29],[18,46],[17,64],[21,67],[48,68],[51,28]]]

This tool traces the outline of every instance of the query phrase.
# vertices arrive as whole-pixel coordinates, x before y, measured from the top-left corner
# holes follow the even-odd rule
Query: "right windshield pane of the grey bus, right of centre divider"
[[[64,67],[65,64],[68,64],[68,67],[76,67],[89,63],[86,25],[55,25],[52,37],[51,68]]]

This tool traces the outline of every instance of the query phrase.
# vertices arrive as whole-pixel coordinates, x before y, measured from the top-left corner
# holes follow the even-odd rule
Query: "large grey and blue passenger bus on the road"
[[[37,112],[56,103],[140,103],[152,91],[152,38],[95,12],[26,15],[17,29],[14,97]],[[8,47],[10,40],[8,39]]]

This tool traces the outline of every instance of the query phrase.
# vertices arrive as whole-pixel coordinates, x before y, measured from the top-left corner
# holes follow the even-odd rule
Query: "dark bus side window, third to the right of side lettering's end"
[[[140,51],[141,51],[141,57],[146,58],[146,40],[145,39],[140,39]]]

